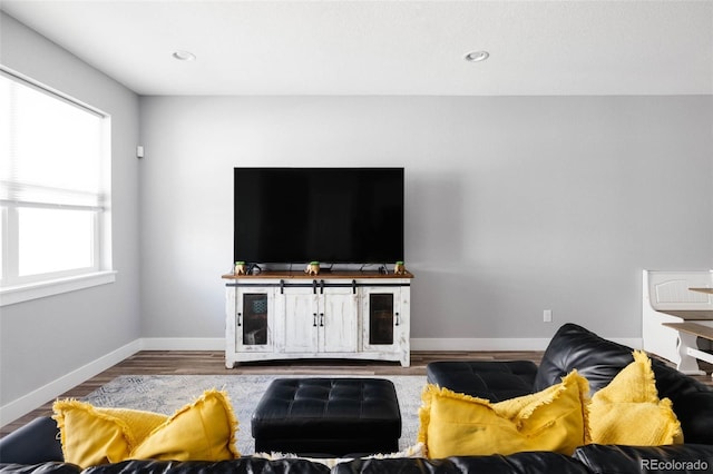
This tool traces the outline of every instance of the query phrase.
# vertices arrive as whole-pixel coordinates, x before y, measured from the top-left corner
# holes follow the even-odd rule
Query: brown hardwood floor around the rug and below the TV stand
[[[426,365],[433,361],[533,361],[539,364],[543,352],[412,352],[411,366],[398,363],[372,361],[281,361],[242,364],[225,368],[222,350],[141,350],[101,374],[64,393],[58,398],[81,398],[119,375],[228,375],[228,374],[297,374],[297,375],[426,375]],[[710,365],[702,367],[709,374]],[[713,386],[711,376],[697,376],[699,381]],[[0,437],[11,433],[38,416],[51,415],[53,401],[0,428]]]

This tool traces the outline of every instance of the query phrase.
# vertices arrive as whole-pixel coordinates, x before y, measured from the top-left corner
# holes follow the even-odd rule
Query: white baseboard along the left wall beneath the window
[[[4,426],[37,407],[42,406],[48,401],[57,398],[70,388],[76,387],[97,374],[100,374],[107,368],[136,354],[140,349],[141,340],[136,339],[133,343],[119,347],[118,349],[113,350],[109,354],[70,372],[69,374],[41,386],[27,395],[0,406],[0,426]]]

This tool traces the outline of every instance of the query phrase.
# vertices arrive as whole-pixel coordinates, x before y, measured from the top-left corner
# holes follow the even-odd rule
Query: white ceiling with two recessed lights
[[[713,93],[713,0],[0,0],[0,8],[140,95]],[[175,50],[197,59],[177,61]],[[472,50],[490,59],[465,61]]]

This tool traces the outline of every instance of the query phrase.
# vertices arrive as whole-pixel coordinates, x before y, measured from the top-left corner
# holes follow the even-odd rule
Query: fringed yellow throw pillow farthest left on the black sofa
[[[76,399],[52,405],[65,461],[80,467],[124,461],[137,440],[168,416],[126,408],[101,408]]]

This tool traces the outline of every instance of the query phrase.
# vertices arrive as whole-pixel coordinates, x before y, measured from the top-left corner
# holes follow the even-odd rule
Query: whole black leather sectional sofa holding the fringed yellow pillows
[[[439,362],[428,366],[432,383],[492,401],[537,392],[576,368],[592,391],[606,386],[632,362],[632,348],[566,324],[547,347],[539,366],[528,362]],[[355,458],[329,468],[303,458],[268,461],[243,457],[218,463],[127,461],[81,471],[62,462],[57,427],[37,418],[0,440],[0,473],[12,474],[241,474],[241,473],[713,473],[713,391],[654,361],[661,397],[670,397],[681,421],[685,444],[637,447],[590,444],[573,456],[551,452],[508,456],[458,456],[442,460]]]

